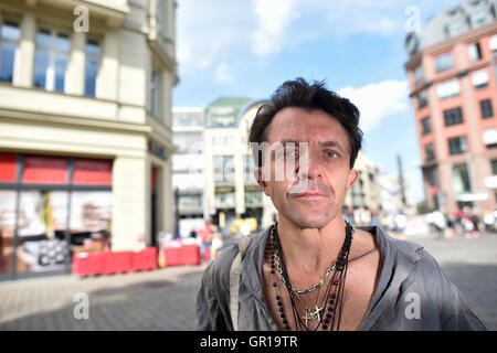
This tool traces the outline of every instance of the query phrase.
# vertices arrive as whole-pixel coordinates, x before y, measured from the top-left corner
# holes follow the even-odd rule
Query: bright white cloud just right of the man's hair
[[[337,93],[359,108],[360,127],[363,131],[373,129],[392,115],[409,110],[406,81],[389,79],[359,88],[346,86]]]

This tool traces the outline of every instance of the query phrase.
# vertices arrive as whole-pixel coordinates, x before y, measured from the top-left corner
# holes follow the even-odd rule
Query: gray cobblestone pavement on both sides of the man
[[[497,330],[497,236],[422,244],[442,265],[489,330]],[[59,276],[0,282],[0,331],[192,330],[202,266],[77,278]],[[88,319],[75,319],[87,295]]]

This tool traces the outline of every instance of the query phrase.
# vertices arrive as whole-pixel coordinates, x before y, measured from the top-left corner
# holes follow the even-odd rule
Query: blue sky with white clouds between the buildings
[[[178,0],[175,107],[267,98],[284,81],[325,79],[361,110],[363,152],[424,199],[409,99],[405,26],[456,0]],[[419,22],[417,22],[419,19]]]

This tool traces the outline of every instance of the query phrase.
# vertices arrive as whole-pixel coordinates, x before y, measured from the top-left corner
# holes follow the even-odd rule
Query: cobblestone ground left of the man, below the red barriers
[[[201,266],[178,266],[1,282],[0,330],[193,330],[202,272]],[[74,314],[80,292],[88,298],[88,320]]]

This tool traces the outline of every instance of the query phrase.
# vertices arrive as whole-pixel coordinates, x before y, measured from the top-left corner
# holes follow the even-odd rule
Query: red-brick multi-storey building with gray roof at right
[[[496,15],[497,1],[465,1],[405,39],[430,210],[496,205]]]

